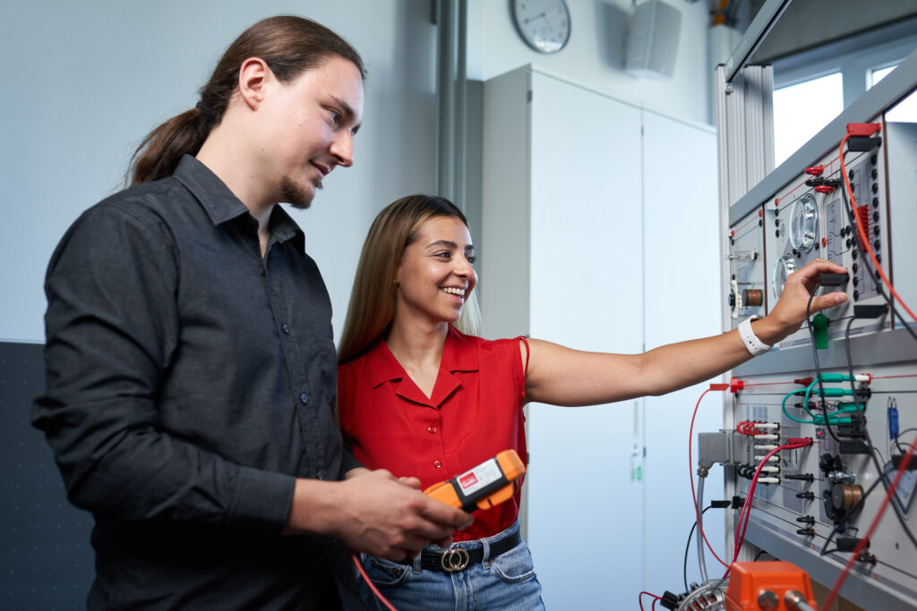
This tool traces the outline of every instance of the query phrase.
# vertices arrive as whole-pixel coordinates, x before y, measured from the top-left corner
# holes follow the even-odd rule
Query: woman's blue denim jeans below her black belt
[[[518,530],[519,522],[516,521],[493,537],[455,543],[452,547],[466,550],[484,547],[484,559],[454,573],[421,570],[419,556],[414,566],[365,554],[361,560],[372,583],[398,611],[544,609],[541,584],[535,576],[532,554],[525,541],[496,558],[489,557],[489,546],[493,542],[512,536]],[[436,546],[427,548],[433,551],[442,549]],[[359,594],[368,608],[385,609],[362,579],[359,580]]]

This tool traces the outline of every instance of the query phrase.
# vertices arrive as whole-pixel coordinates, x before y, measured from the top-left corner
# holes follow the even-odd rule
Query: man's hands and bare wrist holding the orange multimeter
[[[296,480],[285,531],[330,535],[353,551],[402,561],[430,543],[446,547],[452,531],[471,521],[470,514],[422,493],[415,477],[354,469],[343,482]]]

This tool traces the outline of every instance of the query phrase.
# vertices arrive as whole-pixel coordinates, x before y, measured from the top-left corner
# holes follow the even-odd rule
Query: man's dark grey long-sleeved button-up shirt
[[[33,406],[93,512],[90,608],[326,608],[337,542],[282,536],[296,476],[339,479],[331,303],[280,206],[203,164],[83,213],[51,258]]]

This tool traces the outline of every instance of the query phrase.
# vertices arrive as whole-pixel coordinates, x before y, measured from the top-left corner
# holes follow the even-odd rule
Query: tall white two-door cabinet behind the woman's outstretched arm
[[[686,147],[679,153],[689,176],[679,169],[673,180],[646,158],[647,115],[531,67],[485,83],[479,249],[485,337],[525,334],[581,350],[643,351],[647,261],[659,267],[666,259],[668,273],[679,276],[686,263],[679,244],[658,252],[661,245],[655,235],[647,239],[647,227],[667,224],[667,206],[686,202],[683,192],[691,190],[691,200],[706,196],[709,210],[706,216],[695,210],[692,220],[714,231],[717,226],[713,130],[652,115],[654,134],[670,122],[679,138],[687,138],[678,142]],[[692,146],[692,132],[703,147]],[[665,149],[667,134],[657,138],[654,146]],[[647,205],[647,192],[658,205]],[[684,222],[681,215],[673,218]],[[655,252],[646,252],[648,243]],[[715,289],[716,254],[708,258],[701,263],[709,266]],[[713,313],[708,334],[717,333],[715,295],[691,299],[698,297]],[[668,307],[680,311],[682,305]],[[688,328],[694,333],[697,327]],[[690,408],[677,411],[690,419]],[[652,482],[644,447],[668,453],[669,442],[647,443],[645,419],[645,399],[590,408],[529,406],[525,529],[548,608],[635,605],[646,583],[644,516]],[[678,441],[687,444],[686,427]],[[670,457],[665,477],[687,486],[684,454]],[[660,486],[668,485],[657,475]],[[680,561],[692,522],[691,493],[669,502],[686,510],[677,512],[679,520],[652,528],[671,535],[666,545]],[[665,589],[679,590],[680,563],[670,579]]]

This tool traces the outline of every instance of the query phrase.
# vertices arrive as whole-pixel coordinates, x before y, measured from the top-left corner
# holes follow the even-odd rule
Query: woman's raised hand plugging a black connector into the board
[[[818,285],[819,274],[845,274],[844,267],[824,259],[815,259],[787,277],[780,299],[763,321],[755,323],[755,333],[765,344],[777,344],[790,333],[795,333],[805,321],[806,306],[812,290]],[[847,300],[843,292],[829,292],[812,298],[810,314],[833,308]]]

